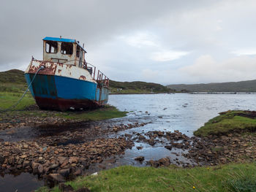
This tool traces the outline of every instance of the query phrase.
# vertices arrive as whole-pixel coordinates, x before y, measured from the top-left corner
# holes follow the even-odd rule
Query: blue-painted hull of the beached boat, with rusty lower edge
[[[29,83],[34,74],[25,74]],[[38,106],[48,110],[91,108],[108,102],[108,88],[99,88],[97,83],[48,74],[37,74],[30,91]]]

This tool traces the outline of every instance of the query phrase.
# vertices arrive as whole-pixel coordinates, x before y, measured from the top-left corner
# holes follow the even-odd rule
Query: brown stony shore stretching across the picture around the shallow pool
[[[28,111],[33,113],[36,110]],[[134,148],[133,150],[138,150],[138,152],[142,149],[138,146],[137,149],[135,148],[137,142],[151,145],[153,148],[162,146],[166,150],[181,151],[181,153],[172,152],[176,155],[173,159],[166,157],[144,161],[143,156],[135,157],[135,161],[140,164],[153,167],[176,164],[187,168],[216,166],[230,162],[243,164],[256,158],[253,153],[256,149],[252,147],[256,144],[256,139],[254,139],[256,137],[251,134],[244,134],[243,138],[240,137],[241,133],[187,137],[179,131],[133,131],[132,134],[118,134],[130,128],[143,127],[147,123],[119,125],[113,123],[111,125],[104,123],[103,120],[101,126],[98,126],[97,121],[94,120],[65,119],[63,118],[64,112],[60,112],[61,115],[55,118],[48,117],[52,112],[46,113],[47,115],[43,117],[26,116],[24,121],[31,119],[25,125],[22,124],[22,120],[14,123],[16,127],[12,126],[12,123],[5,122],[10,127],[0,129],[1,174],[30,172],[45,180],[48,186],[53,186],[56,183],[74,180],[80,175],[89,175],[94,170],[100,171],[115,167],[116,158],[124,155],[127,149]],[[83,112],[77,113],[80,115]],[[8,115],[13,115],[13,113],[10,112]],[[40,122],[42,118],[45,118],[45,121]],[[33,124],[34,128],[29,127],[35,119],[41,124],[36,123]],[[64,121],[59,124],[61,119]],[[3,124],[3,122],[0,123],[0,125]],[[3,131],[12,138],[22,132],[24,139],[6,141],[1,139]],[[248,145],[248,142],[251,144]],[[183,157],[189,161],[181,161]]]

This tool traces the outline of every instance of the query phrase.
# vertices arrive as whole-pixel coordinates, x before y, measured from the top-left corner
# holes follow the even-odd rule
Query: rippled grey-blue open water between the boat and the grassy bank
[[[155,130],[179,130],[192,136],[219,112],[256,110],[256,94],[111,95],[109,104],[130,112],[129,118],[151,119],[147,126]]]

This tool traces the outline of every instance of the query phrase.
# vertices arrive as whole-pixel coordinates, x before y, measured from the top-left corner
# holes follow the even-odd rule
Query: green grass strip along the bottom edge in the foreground
[[[223,166],[195,167],[192,169],[119,166],[99,172],[97,176],[78,177],[68,182],[73,188],[88,187],[100,191],[243,191],[256,184],[255,164],[227,164]],[[247,180],[244,180],[247,178]],[[193,188],[195,187],[195,189]],[[48,191],[40,188],[38,191]],[[59,191],[58,186],[52,191]]]

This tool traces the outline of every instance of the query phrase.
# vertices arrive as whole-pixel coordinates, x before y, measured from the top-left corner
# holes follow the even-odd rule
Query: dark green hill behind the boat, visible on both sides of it
[[[20,87],[26,88],[24,72],[18,69],[0,72],[0,83],[0,91],[16,92]],[[169,90],[164,85],[153,82],[118,82],[110,80],[110,91],[111,93],[167,93]]]

